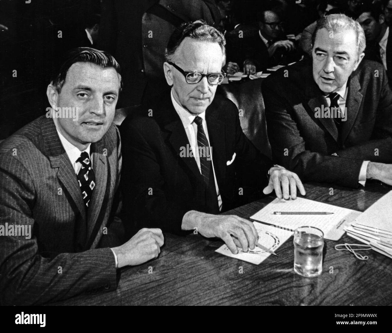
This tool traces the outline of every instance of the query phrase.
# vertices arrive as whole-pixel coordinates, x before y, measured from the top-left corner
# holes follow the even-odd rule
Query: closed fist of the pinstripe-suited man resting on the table
[[[118,268],[139,265],[158,257],[164,239],[161,229],[140,229],[128,242],[113,247]]]

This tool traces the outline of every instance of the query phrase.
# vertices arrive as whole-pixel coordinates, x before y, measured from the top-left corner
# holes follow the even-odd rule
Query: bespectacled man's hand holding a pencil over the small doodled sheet
[[[236,215],[214,215],[190,210],[182,219],[183,230],[196,230],[204,237],[219,237],[234,254],[238,247],[253,250],[258,240],[252,222]]]

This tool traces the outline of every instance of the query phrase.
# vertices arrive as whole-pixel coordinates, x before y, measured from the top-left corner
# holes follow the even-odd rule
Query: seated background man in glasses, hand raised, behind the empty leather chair
[[[254,74],[299,59],[294,42],[287,39],[277,12],[266,10],[259,17],[259,29],[240,25],[228,37],[228,60]]]

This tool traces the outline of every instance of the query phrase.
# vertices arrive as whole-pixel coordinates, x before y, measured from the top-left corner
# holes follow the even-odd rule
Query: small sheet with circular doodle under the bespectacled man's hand
[[[286,242],[293,234],[291,231],[271,227],[269,225],[264,225],[258,222],[253,222],[253,225],[256,228],[257,233],[259,234],[258,242],[264,247],[267,247],[267,249],[274,251],[275,253],[276,249],[278,249],[280,245]],[[248,252],[244,252],[242,251],[242,249],[239,248],[238,254],[232,254],[226,245],[222,245],[215,252],[224,254],[225,256],[229,256],[232,258],[254,263],[256,265],[260,264],[271,255],[269,252],[261,250],[258,247],[255,247],[253,250],[249,250]]]

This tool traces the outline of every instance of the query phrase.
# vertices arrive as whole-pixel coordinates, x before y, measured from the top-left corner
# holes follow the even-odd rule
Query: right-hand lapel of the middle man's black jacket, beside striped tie
[[[219,108],[216,108],[213,105],[214,103],[207,108],[205,119],[207,122],[215,175],[218,187],[221,188],[220,179],[225,179],[226,176],[225,124],[219,120]]]

